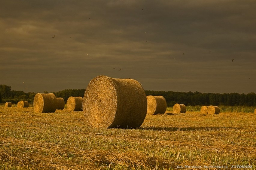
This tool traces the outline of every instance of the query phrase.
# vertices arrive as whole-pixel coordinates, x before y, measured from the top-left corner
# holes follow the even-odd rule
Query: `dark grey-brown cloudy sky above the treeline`
[[[0,6],[0,84],[12,90],[85,89],[106,75],[138,80],[144,90],[256,93],[255,0]]]

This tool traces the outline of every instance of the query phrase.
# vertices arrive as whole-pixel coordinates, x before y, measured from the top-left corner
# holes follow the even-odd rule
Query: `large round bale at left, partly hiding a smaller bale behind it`
[[[56,110],[56,96],[53,93],[37,93],[33,105],[35,112],[53,113]]]

